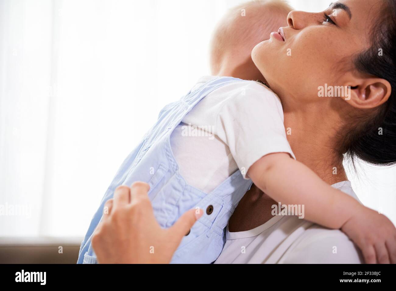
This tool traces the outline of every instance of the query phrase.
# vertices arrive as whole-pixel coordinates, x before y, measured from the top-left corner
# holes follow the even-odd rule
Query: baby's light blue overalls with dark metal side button
[[[236,82],[247,81],[218,77],[161,110],[156,124],[129,154],[107,189],[81,244],[77,263],[97,263],[91,238],[101,220],[104,204],[113,197],[116,187],[130,186],[134,181],[145,181],[150,185],[148,196],[154,215],[163,228],[171,227],[189,209],[199,207],[205,211],[181,241],[171,263],[212,263],[217,259],[225,244],[228,219],[252,182],[244,179],[238,170],[210,193],[188,185],[179,173],[170,136],[202,98],[219,87]],[[202,157],[208,158],[210,156]]]

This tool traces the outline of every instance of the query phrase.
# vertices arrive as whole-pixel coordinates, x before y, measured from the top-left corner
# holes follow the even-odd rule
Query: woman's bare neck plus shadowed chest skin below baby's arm
[[[284,104],[287,140],[297,161],[308,166],[329,185],[347,180],[343,156],[338,154],[337,132],[342,122],[326,104]],[[299,108],[303,107],[303,108]],[[316,108],[314,107],[316,106]],[[297,109],[296,109],[297,108]],[[277,204],[256,186],[242,197],[228,222],[230,232],[247,231],[267,222]]]

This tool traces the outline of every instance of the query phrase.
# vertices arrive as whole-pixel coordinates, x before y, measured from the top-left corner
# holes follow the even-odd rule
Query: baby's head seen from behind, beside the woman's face
[[[293,10],[284,0],[249,1],[230,9],[217,25],[210,48],[211,74],[265,81],[251,59],[253,47],[287,26]]]

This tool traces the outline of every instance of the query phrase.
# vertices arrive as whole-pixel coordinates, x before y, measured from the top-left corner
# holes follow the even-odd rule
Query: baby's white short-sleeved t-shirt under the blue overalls
[[[192,91],[213,76],[202,77]],[[294,157],[287,142],[282,104],[256,81],[225,85],[203,98],[171,135],[171,147],[183,178],[209,193],[238,168],[269,153]]]

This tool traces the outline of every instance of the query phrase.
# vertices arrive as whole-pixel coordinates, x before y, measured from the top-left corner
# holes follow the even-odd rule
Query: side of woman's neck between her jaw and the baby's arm
[[[287,140],[297,161],[332,185],[347,180],[347,177],[343,155],[336,151],[338,141],[335,137],[340,122],[337,122],[337,115],[331,116],[333,110],[323,108],[322,105],[308,104],[299,110],[288,110],[286,105],[284,125],[288,133]]]

